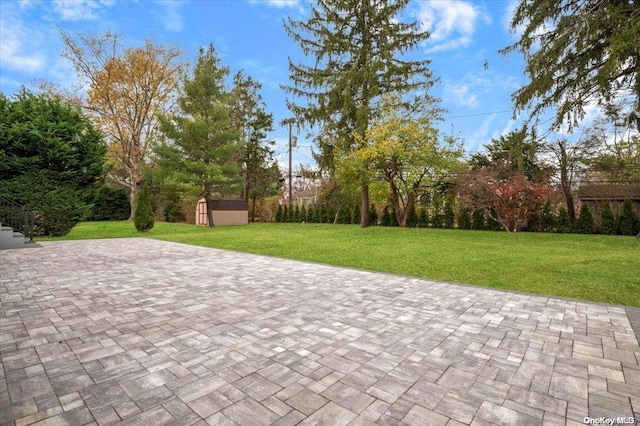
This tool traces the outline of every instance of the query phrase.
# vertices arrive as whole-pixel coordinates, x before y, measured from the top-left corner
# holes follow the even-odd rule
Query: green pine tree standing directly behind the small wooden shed
[[[237,161],[242,146],[231,119],[228,75],[213,46],[200,49],[193,76],[182,84],[178,113],[161,120],[166,140],[156,148],[165,182],[206,198],[209,226],[214,226],[211,198],[237,194],[242,187]]]

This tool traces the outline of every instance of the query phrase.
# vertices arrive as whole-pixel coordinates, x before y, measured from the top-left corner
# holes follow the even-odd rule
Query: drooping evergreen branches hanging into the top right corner
[[[640,2],[521,0],[511,29],[520,40],[502,52],[521,52],[531,80],[514,93],[516,109],[556,108],[559,127],[590,103],[621,103],[640,130]]]

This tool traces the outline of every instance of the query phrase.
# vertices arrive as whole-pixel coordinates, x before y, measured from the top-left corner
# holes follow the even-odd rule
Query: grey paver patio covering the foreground
[[[0,251],[0,423],[640,420],[637,309],[144,238],[41,245]]]

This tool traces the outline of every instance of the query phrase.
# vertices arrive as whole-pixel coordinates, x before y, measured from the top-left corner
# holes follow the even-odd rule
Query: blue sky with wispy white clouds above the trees
[[[518,123],[510,95],[527,81],[522,57],[498,53],[516,40],[509,32],[516,5],[512,0],[414,0],[403,17],[431,32],[414,55],[430,59],[440,79],[432,94],[449,111],[441,130],[462,138],[470,153]],[[305,19],[310,7],[307,0],[2,0],[0,90],[5,95],[22,85],[35,90],[37,79],[69,86],[74,73],[60,57],[58,27],[93,34],[113,30],[127,45],[145,39],[176,45],[192,63],[198,48],[212,43],[232,74],[242,69],[262,83],[267,109],[278,123],[290,116],[280,89],[289,83],[287,58],[304,61],[282,22]],[[277,126],[271,138],[284,164],[287,130]],[[312,164],[304,131],[298,145],[294,164]]]

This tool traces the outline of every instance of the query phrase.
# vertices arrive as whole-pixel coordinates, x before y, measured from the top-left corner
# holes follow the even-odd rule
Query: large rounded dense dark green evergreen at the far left
[[[78,108],[24,88],[0,94],[0,193],[38,212],[37,234],[66,234],[86,217],[105,152]]]

